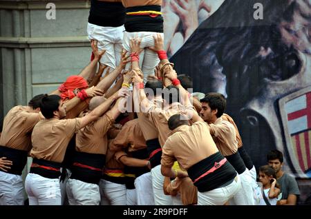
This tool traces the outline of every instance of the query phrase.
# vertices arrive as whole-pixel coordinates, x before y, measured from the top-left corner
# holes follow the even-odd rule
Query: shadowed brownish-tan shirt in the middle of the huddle
[[[128,148],[128,152],[134,152],[147,147],[138,118],[125,123],[121,132],[113,140],[113,144],[115,147]]]

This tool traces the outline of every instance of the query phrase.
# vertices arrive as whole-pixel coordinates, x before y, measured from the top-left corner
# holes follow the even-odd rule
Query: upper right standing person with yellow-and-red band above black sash
[[[139,54],[139,63],[144,72],[144,83],[148,75],[154,75],[154,69],[159,63],[158,54],[149,48],[153,47],[153,35],[163,34],[163,17],[161,12],[162,0],[122,0],[126,8],[125,32],[123,38],[124,49],[131,53],[130,40],[142,38],[140,48],[144,49]],[[128,70],[130,64],[125,69]]]

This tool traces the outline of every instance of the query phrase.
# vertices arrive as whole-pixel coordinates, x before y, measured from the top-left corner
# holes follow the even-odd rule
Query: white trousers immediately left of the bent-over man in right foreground
[[[151,169],[152,188],[155,205],[173,205],[171,196],[167,196],[163,191],[164,176],[161,174],[161,165]]]

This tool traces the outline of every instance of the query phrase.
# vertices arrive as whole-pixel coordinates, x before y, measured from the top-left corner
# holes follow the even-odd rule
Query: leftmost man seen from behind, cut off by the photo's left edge
[[[0,168],[0,205],[23,205],[22,171],[27,163],[33,127],[43,118],[39,103],[43,94],[33,97],[28,106],[13,107],[3,121],[0,137],[0,158],[11,163]]]

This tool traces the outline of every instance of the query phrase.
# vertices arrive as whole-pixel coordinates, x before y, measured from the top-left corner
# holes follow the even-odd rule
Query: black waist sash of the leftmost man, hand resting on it
[[[6,146],[0,146],[0,158],[6,157],[7,160],[12,161],[12,166],[10,166],[11,169],[8,169],[8,171],[7,172],[5,171],[5,173],[20,176],[21,172],[23,171],[23,168],[27,163],[27,156],[28,156],[27,151],[13,149]]]

